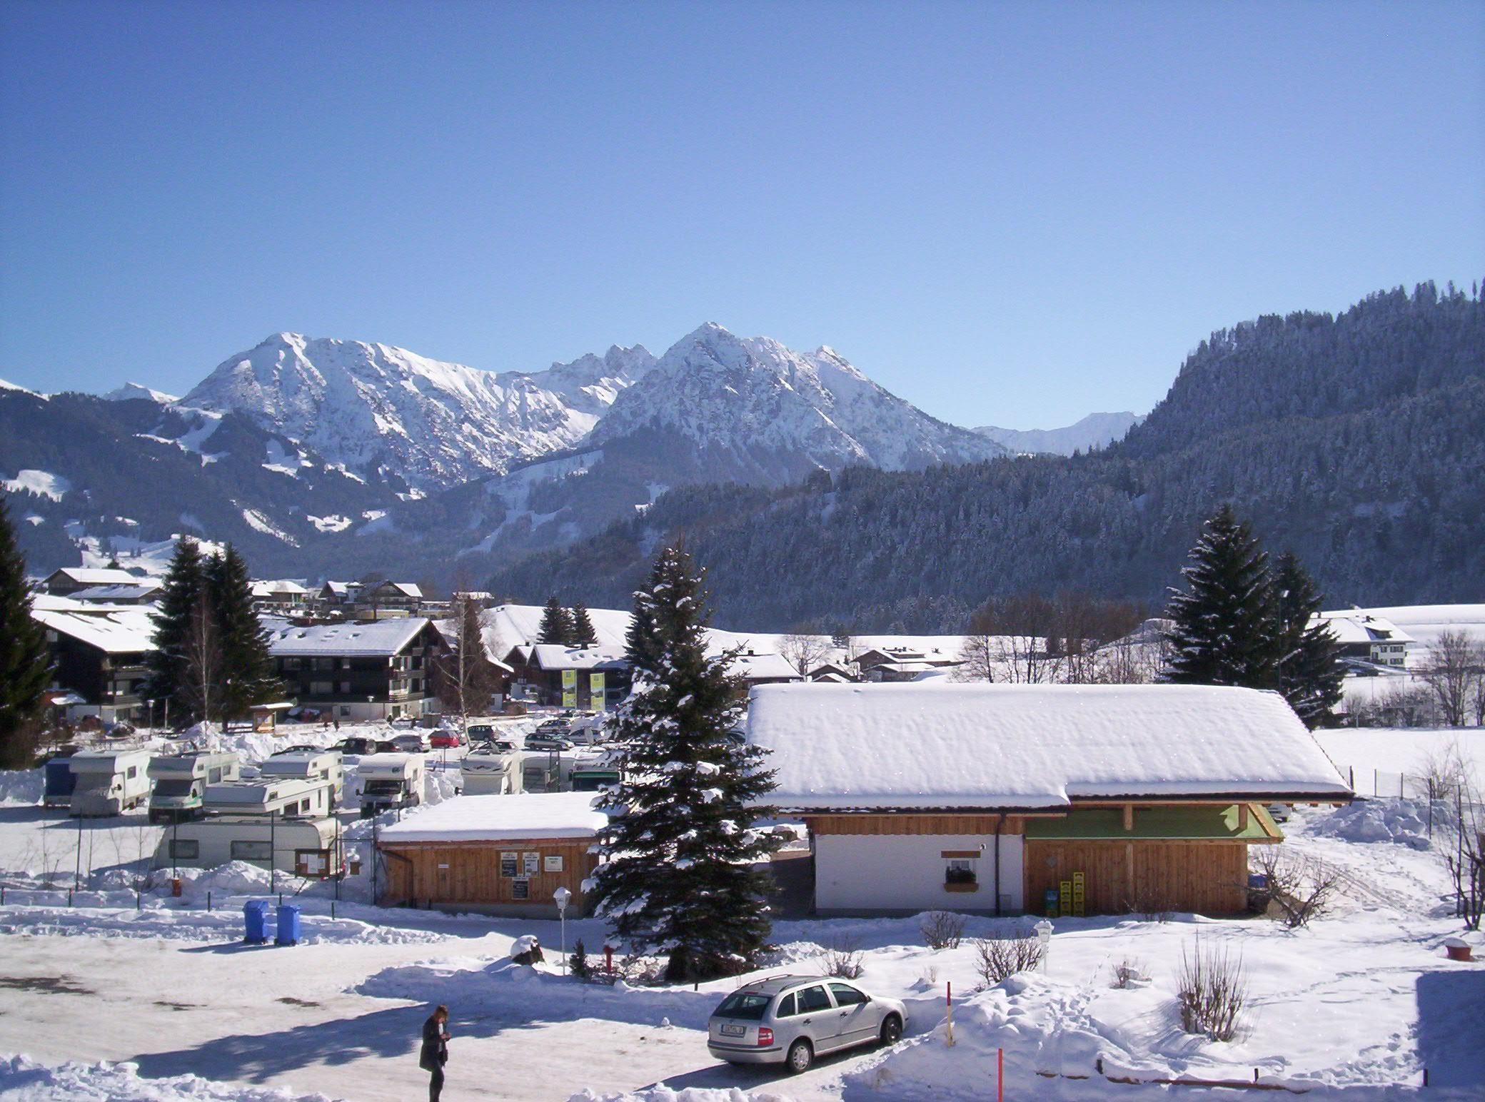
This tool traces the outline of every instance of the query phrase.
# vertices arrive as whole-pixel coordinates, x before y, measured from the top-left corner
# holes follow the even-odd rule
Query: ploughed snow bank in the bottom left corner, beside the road
[[[0,1056],[0,1098],[6,1102],[330,1102],[328,1095],[296,1095],[282,1087],[244,1087],[199,1075],[140,1078],[138,1063],[62,1063],[48,1066],[27,1056]]]

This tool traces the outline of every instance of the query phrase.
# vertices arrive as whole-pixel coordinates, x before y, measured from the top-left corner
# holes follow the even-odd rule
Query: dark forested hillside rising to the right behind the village
[[[1274,554],[1304,561],[1328,607],[1478,600],[1482,425],[1479,291],[1424,284],[1213,333],[1102,451],[685,487],[490,588],[624,607],[655,548],[685,533],[719,627],[958,631],[996,594],[1158,607],[1203,520],[1231,502]]]

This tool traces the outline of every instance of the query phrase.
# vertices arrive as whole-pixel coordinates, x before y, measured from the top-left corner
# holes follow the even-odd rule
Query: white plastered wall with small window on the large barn
[[[818,910],[995,910],[995,835],[817,835]],[[944,850],[980,850],[980,890],[943,888]],[[1002,909],[1022,910],[1022,836],[1001,835]]]

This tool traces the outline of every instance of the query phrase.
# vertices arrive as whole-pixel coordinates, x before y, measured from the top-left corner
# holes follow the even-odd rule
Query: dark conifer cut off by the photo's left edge
[[[0,495],[0,768],[30,769],[36,763],[36,735],[50,680],[46,633],[31,618],[25,560]]]

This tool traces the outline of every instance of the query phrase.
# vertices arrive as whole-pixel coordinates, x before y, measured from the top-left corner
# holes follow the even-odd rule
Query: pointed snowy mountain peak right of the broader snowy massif
[[[781,483],[852,463],[887,471],[1005,454],[888,394],[830,348],[793,352],[714,322],[676,342],[621,394],[587,446],[659,432],[696,449],[708,477]]]

